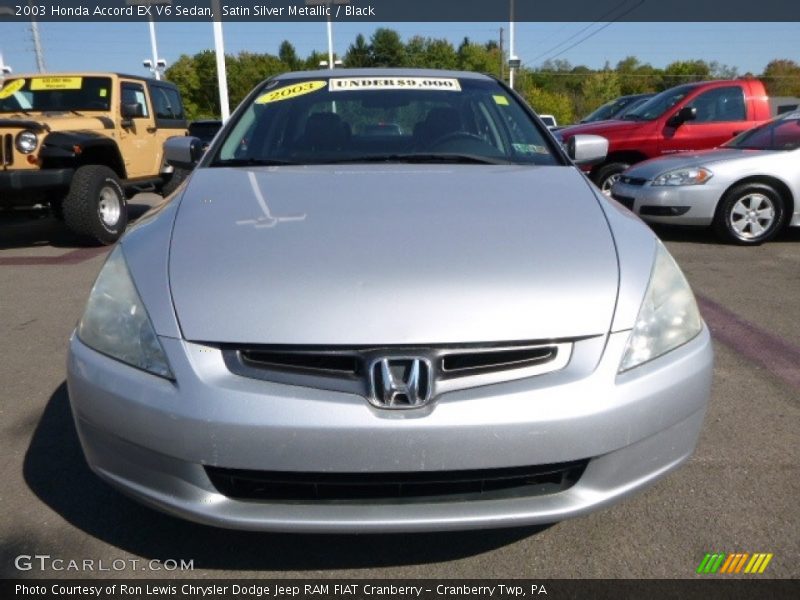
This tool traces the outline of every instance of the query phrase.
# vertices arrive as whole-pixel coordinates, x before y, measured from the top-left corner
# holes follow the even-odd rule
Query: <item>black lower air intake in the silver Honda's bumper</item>
[[[588,462],[412,473],[296,473],[220,467],[205,470],[220,494],[237,500],[444,502],[555,494],[572,487]]]

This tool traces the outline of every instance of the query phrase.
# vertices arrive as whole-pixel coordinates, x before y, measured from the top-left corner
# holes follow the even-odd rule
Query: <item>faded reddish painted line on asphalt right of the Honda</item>
[[[711,335],[784,383],[800,389],[800,346],[768,333],[704,296],[697,296]]]

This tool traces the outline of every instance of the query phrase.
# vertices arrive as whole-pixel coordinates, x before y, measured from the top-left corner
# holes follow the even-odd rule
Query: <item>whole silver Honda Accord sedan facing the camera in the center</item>
[[[113,250],[72,336],[92,469],[202,523],[548,523],[685,461],[712,371],[675,261],[509,88],[261,84]],[[572,159],[572,160],[570,160]],[[196,163],[196,165],[195,165]]]

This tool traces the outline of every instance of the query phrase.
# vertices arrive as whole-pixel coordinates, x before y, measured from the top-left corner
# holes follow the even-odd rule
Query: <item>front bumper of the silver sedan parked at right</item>
[[[717,203],[724,192],[725,189],[718,187],[713,179],[704,185],[672,187],[649,183],[631,185],[620,181],[611,189],[611,197],[650,223],[706,226],[714,220]],[[670,216],[653,214],[661,208],[688,210]]]

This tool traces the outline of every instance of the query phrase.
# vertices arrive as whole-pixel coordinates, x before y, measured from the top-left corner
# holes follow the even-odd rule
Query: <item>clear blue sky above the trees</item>
[[[454,45],[468,36],[475,42],[497,40],[508,23],[335,23],[334,50],[344,55],[358,33],[367,38],[377,27],[414,36],[447,38]],[[150,57],[147,23],[39,23],[48,71],[120,71],[147,74]],[[284,39],[300,57],[327,52],[325,23],[225,23],[225,52],[277,54]],[[213,48],[211,23],[157,23],[159,58],[171,64],[181,54]],[[734,66],[739,73],[763,71],[774,58],[800,62],[800,23],[518,23],[516,54],[538,66],[548,58],[600,68],[634,55],[654,67],[675,60],[703,59]],[[28,24],[0,23],[0,53],[14,72],[36,70]]]

